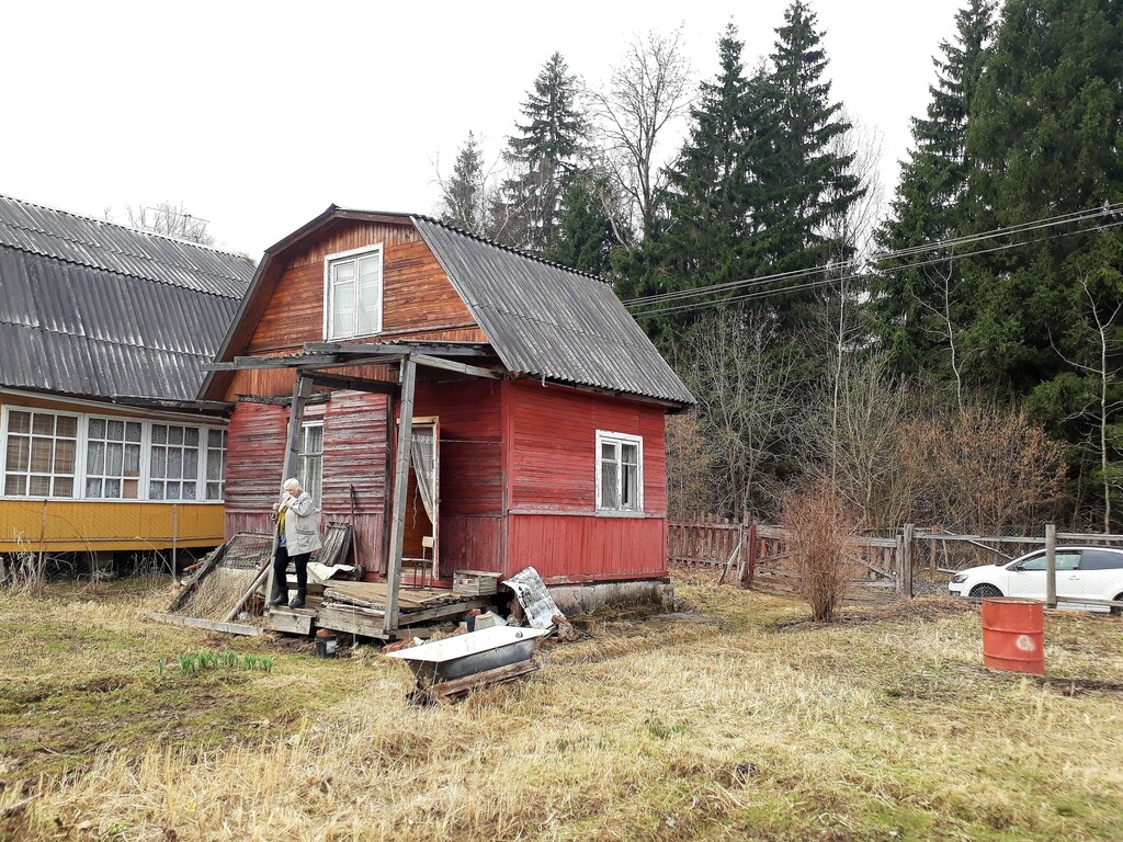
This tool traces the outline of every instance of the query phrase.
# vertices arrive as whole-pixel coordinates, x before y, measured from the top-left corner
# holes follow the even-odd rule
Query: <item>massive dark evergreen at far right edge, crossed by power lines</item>
[[[975,230],[1123,200],[1120,67],[1119,2],[1006,2],[967,129]],[[1019,247],[973,262],[979,281],[964,346],[969,374],[992,393],[1023,395],[1070,369],[1065,358],[1079,348],[1065,337],[1088,318],[1077,287],[1120,268],[1120,229],[1088,230],[1095,225],[1007,237],[999,245]]]

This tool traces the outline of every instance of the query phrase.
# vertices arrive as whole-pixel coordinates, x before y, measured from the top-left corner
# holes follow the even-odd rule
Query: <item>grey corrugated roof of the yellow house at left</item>
[[[245,256],[0,195],[0,387],[195,399]]]

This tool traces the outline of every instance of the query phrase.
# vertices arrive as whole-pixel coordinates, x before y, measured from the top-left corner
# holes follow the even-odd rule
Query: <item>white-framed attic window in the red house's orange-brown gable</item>
[[[323,312],[328,339],[382,331],[381,245],[325,258]]]

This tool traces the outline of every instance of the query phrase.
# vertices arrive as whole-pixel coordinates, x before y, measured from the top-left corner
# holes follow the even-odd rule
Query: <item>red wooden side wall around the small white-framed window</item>
[[[530,382],[506,385],[504,574],[555,582],[666,575],[666,457],[659,406]],[[643,437],[645,516],[595,514],[596,430]]]

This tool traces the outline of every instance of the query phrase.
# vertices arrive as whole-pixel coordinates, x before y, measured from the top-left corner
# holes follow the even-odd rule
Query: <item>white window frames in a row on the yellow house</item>
[[[8,430],[10,427],[9,419],[12,412],[30,412],[30,413],[43,413],[57,417],[73,418],[77,424],[77,440],[75,443],[74,452],[74,486],[72,494],[69,497],[58,496],[44,496],[44,495],[9,495],[4,493],[7,486],[7,474],[8,474]],[[139,493],[136,497],[93,497],[88,496],[85,493],[85,484],[88,479],[86,475],[86,454],[90,441],[90,421],[91,420],[104,420],[104,421],[126,421],[139,423],[140,428],[140,477],[139,477]],[[198,466],[195,472],[195,497],[193,500],[180,498],[180,500],[153,500],[149,496],[149,481],[150,481],[150,468],[152,468],[152,427],[153,424],[165,424],[172,427],[183,427],[189,429],[195,429],[199,431],[199,454],[198,454]],[[225,425],[219,424],[199,424],[199,423],[186,423],[184,419],[172,419],[172,418],[136,418],[134,415],[107,415],[101,412],[74,412],[73,410],[54,410],[45,406],[25,406],[17,403],[4,404],[0,406],[0,500],[37,500],[37,501],[74,501],[84,500],[91,502],[100,503],[186,503],[186,504],[219,504],[221,505],[226,500],[226,476],[223,472],[222,477],[222,498],[221,500],[207,500],[207,442],[209,440],[211,430],[221,430],[227,432],[227,443],[229,445],[229,431]],[[227,450],[229,452],[229,449]],[[53,475],[52,475],[53,476]],[[103,478],[104,475],[100,474],[99,477]],[[166,478],[165,478],[166,479]],[[179,482],[184,482],[182,478]]]

